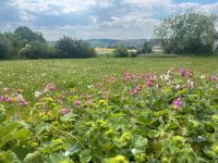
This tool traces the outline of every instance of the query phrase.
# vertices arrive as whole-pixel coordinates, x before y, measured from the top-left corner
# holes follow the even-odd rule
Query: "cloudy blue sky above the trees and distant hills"
[[[27,26],[48,40],[150,38],[178,11],[218,13],[218,0],[0,0],[0,30]]]

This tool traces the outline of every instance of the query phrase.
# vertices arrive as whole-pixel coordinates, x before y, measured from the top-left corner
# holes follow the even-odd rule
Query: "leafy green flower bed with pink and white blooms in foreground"
[[[218,160],[216,75],[124,72],[86,87],[48,84],[29,101],[21,88],[2,88],[0,162]]]

